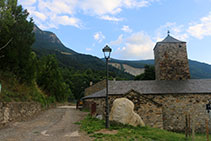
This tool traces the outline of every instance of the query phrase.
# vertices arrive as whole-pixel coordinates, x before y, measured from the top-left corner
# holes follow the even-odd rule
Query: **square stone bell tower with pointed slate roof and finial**
[[[190,79],[186,42],[169,35],[154,48],[156,80]]]

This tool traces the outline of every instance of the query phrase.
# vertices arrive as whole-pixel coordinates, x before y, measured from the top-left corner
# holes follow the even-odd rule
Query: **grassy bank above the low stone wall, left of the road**
[[[36,84],[19,83],[15,75],[10,72],[0,72],[2,90],[0,102],[39,102],[47,107],[55,102],[54,98],[47,97]]]

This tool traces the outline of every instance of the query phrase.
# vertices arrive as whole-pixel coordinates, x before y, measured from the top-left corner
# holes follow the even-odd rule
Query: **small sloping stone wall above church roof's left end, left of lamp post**
[[[106,87],[106,81],[105,80],[100,81],[100,82],[98,82],[98,83],[86,88],[84,95],[88,96],[90,94],[93,94],[95,92],[103,90],[105,87]]]

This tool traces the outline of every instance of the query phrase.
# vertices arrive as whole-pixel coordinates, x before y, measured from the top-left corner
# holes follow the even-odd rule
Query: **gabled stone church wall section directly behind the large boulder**
[[[155,128],[163,128],[162,106],[159,103],[139,95],[134,91],[120,96],[109,96],[109,111],[115,99],[125,97],[134,103],[134,111],[140,115],[145,125]],[[84,101],[86,108],[91,109],[91,104],[96,103],[96,113],[105,117],[105,98],[87,99]],[[87,106],[88,105],[88,106]]]

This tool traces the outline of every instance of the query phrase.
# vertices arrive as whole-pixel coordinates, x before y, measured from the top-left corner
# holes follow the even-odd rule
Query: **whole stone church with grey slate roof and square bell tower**
[[[191,128],[194,124],[197,132],[204,132],[211,79],[190,79],[186,42],[169,34],[156,43],[154,56],[156,80],[109,81],[110,108],[116,98],[125,97],[134,103],[135,112],[147,126],[184,131],[188,114]],[[85,95],[84,107],[95,103],[96,113],[105,115],[105,81],[87,88]]]

